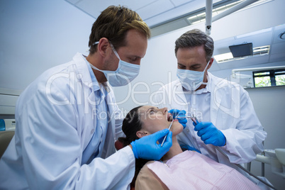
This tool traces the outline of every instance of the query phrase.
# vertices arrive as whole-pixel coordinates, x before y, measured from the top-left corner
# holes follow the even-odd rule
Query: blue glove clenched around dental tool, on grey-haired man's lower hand
[[[203,140],[203,142],[208,145],[212,144],[218,147],[225,145],[225,135],[218,130],[218,128],[211,122],[198,122],[197,124],[193,122],[195,126],[194,130],[198,131],[197,135]]]

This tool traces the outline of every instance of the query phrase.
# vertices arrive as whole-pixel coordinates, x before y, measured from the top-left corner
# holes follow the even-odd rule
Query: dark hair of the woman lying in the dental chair
[[[134,140],[139,139],[136,135],[138,130],[142,129],[142,123],[140,121],[140,113],[138,113],[138,109],[142,106],[138,106],[136,108],[133,108],[127,116],[125,116],[125,119],[123,120],[123,126],[122,130],[123,133],[125,133],[125,138],[118,138],[118,140],[123,143],[123,146],[130,145]],[[135,187],[135,180],[138,177],[138,173],[140,172],[140,169],[147,163],[149,160],[145,159],[136,159],[135,160],[135,176],[133,177],[133,181],[130,183],[131,187]]]

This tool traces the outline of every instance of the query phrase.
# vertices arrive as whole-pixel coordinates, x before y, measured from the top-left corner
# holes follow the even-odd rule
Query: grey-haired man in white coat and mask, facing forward
[[[189,120],[178,135],[179,143],[240,170],[232,163],[254,160],[262,152],[267,136],[247,91],[208,72],[213,64],[213,39],[201,30],[181,35],[175,42],[175,55],[179,79],[157,91],[152,100],[154,105],[185,110],[186,116],[194,114],[200,123],[194,125]]]

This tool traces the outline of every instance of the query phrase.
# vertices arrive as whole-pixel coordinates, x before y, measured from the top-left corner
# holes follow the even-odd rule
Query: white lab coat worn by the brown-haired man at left
[[[111,89],[105,100],[111,121],[102,156],[81,165],[96,131],[84,57],[77,53],[38,77],[18,99],[16,133],[0,161],[0,189],[128,189],[135,157],[130,147],[115,153],[123,115]]]

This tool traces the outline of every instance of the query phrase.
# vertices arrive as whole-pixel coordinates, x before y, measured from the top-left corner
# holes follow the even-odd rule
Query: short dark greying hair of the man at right
[[[177,55],[177,50],[179,48],[191,48],[200,45],[203,45],[206,52],[206,61],[210,61],[214,50],[213,38],[199,29],[189,30],[175,41],[175,55]]]

